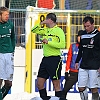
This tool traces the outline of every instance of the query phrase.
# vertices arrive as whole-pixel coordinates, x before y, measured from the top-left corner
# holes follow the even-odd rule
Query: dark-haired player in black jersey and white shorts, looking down
[[[75,64],[77,69],[82,58],[78,74],[78,88],[82,100],[88,100],[87,86],[92,92],[92,100],[99,100],[100,32],[94,28],[92,17],[86,16],[83,19],[83,25],[85,35],[81,36]]]

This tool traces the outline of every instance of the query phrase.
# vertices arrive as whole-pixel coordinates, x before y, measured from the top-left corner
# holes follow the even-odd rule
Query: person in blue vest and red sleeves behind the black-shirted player
[[[62,97],[66,98],[67,92],[72,88],[72,86],[78,80],[78,69],[75,69],[75,60],[78,55],[78,47],[80,43],[80,37],[83,34],[83,30],[78,31],[77,42],[70,45],[67,61],[66,61],[66,69],[65,69],[65,84],[62,91]]]

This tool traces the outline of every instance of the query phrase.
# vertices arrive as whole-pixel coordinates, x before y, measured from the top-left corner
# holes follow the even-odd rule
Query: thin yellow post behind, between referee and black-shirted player
[[[67,19],[67,36],[66,36],[66,40],[67,40],[67,49],[70,47],[70,13],[68,13],[68,19]]]

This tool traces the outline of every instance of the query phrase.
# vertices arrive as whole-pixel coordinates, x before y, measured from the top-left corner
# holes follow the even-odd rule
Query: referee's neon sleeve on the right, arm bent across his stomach
[[[48,41],[48,44],[54,48],[65,48],[65,34],[63,30],[57,30],[58,41]]]

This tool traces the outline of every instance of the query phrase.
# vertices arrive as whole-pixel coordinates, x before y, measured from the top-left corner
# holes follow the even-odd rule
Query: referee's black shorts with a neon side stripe
[[[38,76],[51,80],[61,78],[62,60],[60,56],[43,57],[38,71]]]

